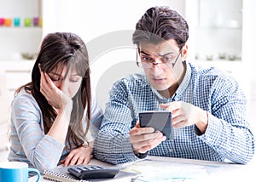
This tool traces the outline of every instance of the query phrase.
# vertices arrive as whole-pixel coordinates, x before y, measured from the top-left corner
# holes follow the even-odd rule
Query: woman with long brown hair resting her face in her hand
[[[86,164],[101,121],[84,42],[73,33],[48,34],[32,82],[18,88],[12,103],[9,161],[42,173],[61,163]]]

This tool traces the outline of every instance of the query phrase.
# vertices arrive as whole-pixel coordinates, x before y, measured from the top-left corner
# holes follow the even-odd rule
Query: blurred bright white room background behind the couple
[[[0,0],[0,161],[7,156],[10,102],[15,89],[31,80],[44,36],[72,31],[83,38],[92,87],[104,109],[113,82],[140,71],[131,35],[137,20],[156,5],[176,9],[188,21],[188,61],[217,66],[240,83],[255,130],[255,0]]]

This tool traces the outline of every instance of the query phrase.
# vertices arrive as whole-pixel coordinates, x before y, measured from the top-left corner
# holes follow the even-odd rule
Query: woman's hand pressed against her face
[[[72,99],[57,88],[49,75],[43,71],[41,71],[40,92],[49,102],[49,105],[52,105],[55,109],[61,109],[63,105],[72,105],[73,103]]]

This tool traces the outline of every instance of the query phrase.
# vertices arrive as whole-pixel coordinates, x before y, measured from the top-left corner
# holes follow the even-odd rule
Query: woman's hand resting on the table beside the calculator
[[[66,167],[69,165],[88,164],[92,157],[93,148],[89,145],[81,145],[70,151],[61,163]]]

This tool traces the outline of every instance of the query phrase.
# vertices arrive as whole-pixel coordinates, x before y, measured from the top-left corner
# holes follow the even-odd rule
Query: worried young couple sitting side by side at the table
[[[186,60],[189,26],[167,7],[148,9],[133,43],[143,74],[113,84],[102,115],[90,90],[84,42],[73,33],[44,37],[32,82],[17,90],[11,112],[9,161],[31,167],[110,163],[148,155],[245,164],[254,154],[246,98],[237,82],[215,68]],[[140,128],[139,111],[172,111],[174,139]]]

